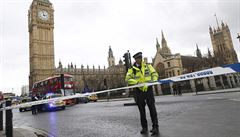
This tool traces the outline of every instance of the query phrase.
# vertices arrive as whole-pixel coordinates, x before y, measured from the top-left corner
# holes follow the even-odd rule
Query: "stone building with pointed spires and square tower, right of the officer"
[[[200,49],[198,49],[198,45],[196,45],[197,50],[195,57],[172,54],[162,32],[162,47],[160,47],[157,40],[157,52],[155,58],[153,59],[153,66],[158,71],[160,78],[172,77],[221,65],[238,63],[237,54],[233,47],[228,25],[222,22],[221,27],[218,26],[217,29],[210,27],[209,33],[214,54],[212,55],[208,49],[207,56],[203,57]]]

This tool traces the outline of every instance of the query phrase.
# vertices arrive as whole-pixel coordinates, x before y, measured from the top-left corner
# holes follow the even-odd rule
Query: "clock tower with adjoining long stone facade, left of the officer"
[[[83,66],[63,68],[62,65],[55,67],[53,13],[54,9],[49,0],[33,0],[28,11],[30,89],[34,82],[62,73],[74,76],[77,91],[81,91],[86,85],[94,90],[124,86],[125,69],[121,61],[119,65],[115,65],[111,47],[109,47],[107,69],[105,67],[95,69],[94,66],[91,69],[88,66],[87,68]]]

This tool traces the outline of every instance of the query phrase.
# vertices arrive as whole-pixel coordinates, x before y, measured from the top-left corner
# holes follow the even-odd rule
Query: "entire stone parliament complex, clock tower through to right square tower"
[[[113,51],[109,46],[108,67],[80,66],[72,63],[64,67],[59,61],[55,66],[54,56],[54,9],[49,0],[33,0],[28,11],[29,31],[29,87],[34,82],[62,73],[71,74],[76,81],[76,90],[80,91],[88,85],[94,90],[126,86],[125,66],[120,60],[115,63]],[[216,28],[209,28],[213,53],[202,56],[196,46],[196,57],[172,54],[162,32],[162,41],[156,40],[156,55],[152,60],[160,78],[172,77],[222,64],[237,63],[237,54],[233,48],[228,25],[222,23]],[[154,48],[154,46],[153,46]],[[127,50],[127,49],[126,49]],[[224,54],[223,54],[224,53]],[[124,54],[124,53],[123,53]]]

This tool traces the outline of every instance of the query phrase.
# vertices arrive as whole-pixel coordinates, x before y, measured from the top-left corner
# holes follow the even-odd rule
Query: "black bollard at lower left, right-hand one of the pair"
[[[6,107],[11,106],[12,101],[7,100],[6,101]],[[12,109],[6,110],[6,121],[5,121],[5,127],[6,127],[6,137],[13,137],[13,125],[12,125]]]

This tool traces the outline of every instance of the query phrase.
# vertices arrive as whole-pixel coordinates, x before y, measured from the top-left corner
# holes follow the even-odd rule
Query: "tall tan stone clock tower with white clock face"
[[[28,11],[29,87],[54,73],[54,15],[49,0],[33,0]]]

